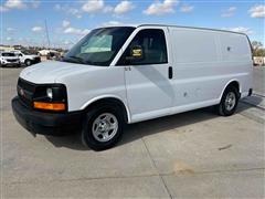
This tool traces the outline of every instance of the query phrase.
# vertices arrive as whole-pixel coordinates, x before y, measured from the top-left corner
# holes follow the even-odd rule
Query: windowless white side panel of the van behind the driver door
[[[252,60],[245,35],[169,28],[174,66],[172,113],[218,104],[236,81],[243,96],[251,88]]]

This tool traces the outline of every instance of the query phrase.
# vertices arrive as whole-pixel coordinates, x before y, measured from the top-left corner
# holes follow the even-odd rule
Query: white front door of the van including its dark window
[[[174,92],[167,38],[167,28],[139,30],[118,61],[125,67],[131,122],[170,114]],[[135,46],[142,49],[142,59],[128,59]]]

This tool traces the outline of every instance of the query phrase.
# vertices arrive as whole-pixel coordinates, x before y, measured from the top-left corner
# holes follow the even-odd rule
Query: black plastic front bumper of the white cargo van
[[[75,133],[82,126],[82,112],[43,113],[24,106],[19,97],[12,100],[13,115],[32,134],[61,136]]]

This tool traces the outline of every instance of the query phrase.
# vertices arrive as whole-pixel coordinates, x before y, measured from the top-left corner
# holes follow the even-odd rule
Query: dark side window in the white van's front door
[[[131,49],[140,46],[142,57],[140,60],[130,59]],[[139,31],[130,42],[117,65],[146,65],[168,63],[167,44],[163,30],[146,29]]]

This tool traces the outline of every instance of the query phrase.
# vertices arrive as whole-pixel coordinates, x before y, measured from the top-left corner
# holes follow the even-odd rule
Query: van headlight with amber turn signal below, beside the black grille
[[[33,96],[36,109],[65,112],[67,109],[66,87],[63,84],[36,86]]]

